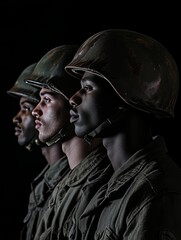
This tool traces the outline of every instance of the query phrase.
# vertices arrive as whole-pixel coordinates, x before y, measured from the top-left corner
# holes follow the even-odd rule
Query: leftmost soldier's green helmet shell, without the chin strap
[[[39,94],[37,88],[25,83],[25,80],[30,77],[35,66],[36,63],[33,63],[21,72],[13,87],[7,91],[9,95],[18,98],[25,97],[31,99],[35,103],[39,102]]]

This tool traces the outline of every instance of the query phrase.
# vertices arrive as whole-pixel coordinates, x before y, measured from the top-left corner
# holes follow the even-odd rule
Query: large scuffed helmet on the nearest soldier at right
[[[168,50],[149,36],[124,29],[98,32],[65,69],[79,79],[85,71],[102,77],[136,109],[158,118],[174,116],[178,69]]]

